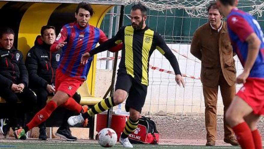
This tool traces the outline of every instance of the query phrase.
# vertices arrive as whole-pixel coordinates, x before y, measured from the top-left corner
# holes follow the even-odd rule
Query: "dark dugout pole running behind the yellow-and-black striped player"
[[[120,18],[119,18],[119,29],[122,27],[123,18],[124,18],[124,10],[125,10],[125,6],[122,5],[121,10],[120,10]],[[116,79],[117,57],[118,57],[118,52],[115,53],[115,60],[114,60],[114,66],[113,66],[113,75],[112,75],[112,82],[111,82],[112,89],[110,92],[110,95],[112,97],[114,95],[114,84],[115,84],[115,79]],[[111,126],[112,112],[113,112],[113,108],[110,108],[107,111],[107,127],[108,128]]]

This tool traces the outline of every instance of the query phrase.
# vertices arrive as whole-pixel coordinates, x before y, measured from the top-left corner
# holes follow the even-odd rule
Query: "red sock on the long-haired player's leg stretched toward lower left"
[[[49,101],[46,106],[41,109],[33,119],[27,124],[29,130],[38,126],[42,122],[46,121],[50,114],[57,108],[57,104],[54,101]]]

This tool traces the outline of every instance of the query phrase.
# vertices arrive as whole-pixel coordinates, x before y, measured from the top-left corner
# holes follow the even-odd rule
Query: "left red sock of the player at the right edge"
[[[246,122],[240,123],[232,129],[242,149],[255,149],[252,133]]]

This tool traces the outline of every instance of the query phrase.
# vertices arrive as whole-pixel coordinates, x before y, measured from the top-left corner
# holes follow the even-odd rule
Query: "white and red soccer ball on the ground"
[[[116,144],[117,135],[113,129],[104,128],[99,132],[97,140],[102,147],[112,147]]]

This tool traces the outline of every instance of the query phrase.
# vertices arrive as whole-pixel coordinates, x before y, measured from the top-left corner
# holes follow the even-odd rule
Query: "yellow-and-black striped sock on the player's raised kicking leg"
[[[114,107],[115,103],[114,103],[114,98],[113,97],[108,97],[105,98],[103,100],[101,100],[100,102],[98,102],[98,104],[95,104],[94,107],[92,107],[91,109],[89,109],[87,112],[82,113],[82,117],[84,119],[88,118],[88,117],[92,117],[95,114],[98,113],[102,113],[106,110],[108,110],[111,107]]]

